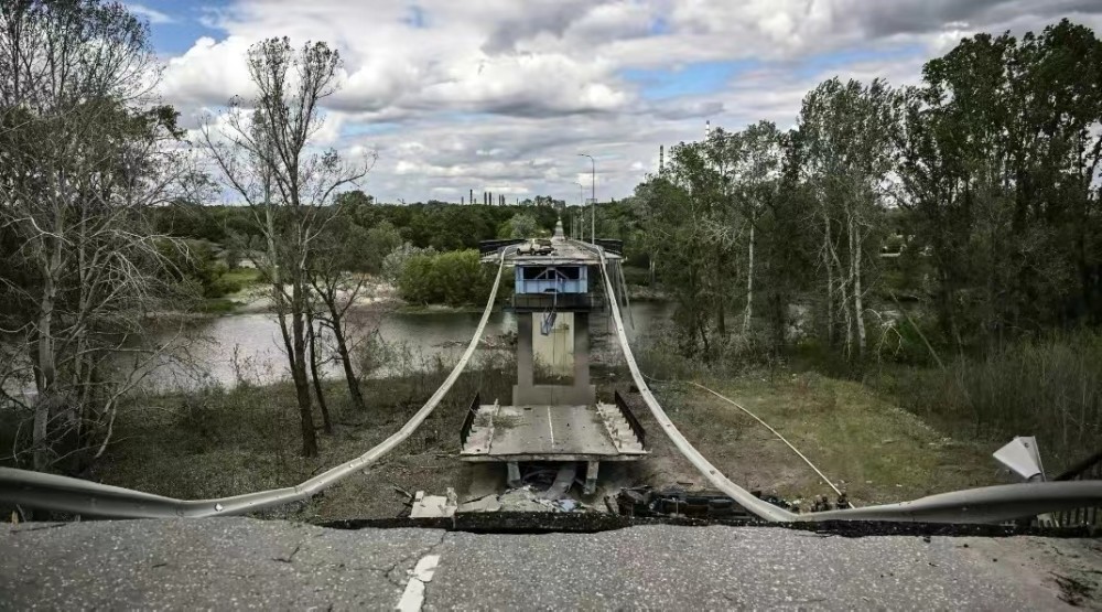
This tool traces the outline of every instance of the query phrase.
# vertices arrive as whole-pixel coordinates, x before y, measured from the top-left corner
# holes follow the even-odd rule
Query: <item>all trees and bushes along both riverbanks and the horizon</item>
[[[122,4],[3,2],[0,20],[0,441],[18,465],[84,473],[169,358],[141,341],[152,315],[223,312],[249,283],[271,296],[316,457],[315,405],[334,436],[389,406],[360,380],[378,339],[348,325],[370,277],[411,303],[479,304],[478,243],[560,216],[571,235],[595,217],[633,284],[673,298],[673,333],[646,357],[659,376],[810,364],[976,437],[1036,432],[1060,457],[1102,439],[1102,41],[1084,26],[975,35],[917,86],[827,80],[792,129],[680,143],[594,211],[376,202],[357,189],[370,158],[312,140],[339,55],[287,39],[250,47],[257,97],[201,130],[207,176],[176,112],[144,95],[155,56]],[[205,205],[214,189],[245,205]],[[347,401],[318,375],[329,358]],[[230,417],[205,410],[235,394],[175,398],[172,422],[207,436]],[[277,427],[283,452],[285,415],[258,415],[248,427]]]

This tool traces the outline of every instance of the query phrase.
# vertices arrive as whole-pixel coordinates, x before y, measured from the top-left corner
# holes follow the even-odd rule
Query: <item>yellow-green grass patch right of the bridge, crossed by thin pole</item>
[[[954,440],[860,383],[814,373],[704,379],[785,436],[861,504],[993,484],[994,447]],[[736,407],[689,385],[660,398],[687,438],[735,482],[785,497],[833,492]]]

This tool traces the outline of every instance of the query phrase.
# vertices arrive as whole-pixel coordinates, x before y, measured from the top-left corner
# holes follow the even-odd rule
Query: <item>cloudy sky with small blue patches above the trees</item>
[[[345,60],[321,144],[376,151],[361,185],[396,202],[630,195],[659,144],[705,120],[790,127],[834,75],[917,82],[977,31],[1068,17],[1102,31],[1099,0],[141,0],[188,126],[247,95],[257,40],[323,40]]]

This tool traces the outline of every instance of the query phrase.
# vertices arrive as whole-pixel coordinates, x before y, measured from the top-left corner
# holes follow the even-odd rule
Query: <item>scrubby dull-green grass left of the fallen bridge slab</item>
[[[505,367],[505,366],[503,366]],[[507,372],[507,369],[506,369]],[[97,464],[99,482],[182,498],[209,498],[298,484],[353,459],[397,431],[440,385],[446,371],[366,380],[368,409],[354,409],[343,380],[325,383],[334,432],[318,430],[320,455],[305,459],[290,383],[214,387],[203,393],[134,401],[120,411],[116,442]],[[396,516],[395,487],[443,492],[462,486],[453,453],[475,393],[507,397],[496,365],[465,373],[409,439],[364,472],[310,503],[261,513],[266,517],[326,520]],[[315,407],[316,412],[316,407]],[[317,426],[321,426],[317,416]]]

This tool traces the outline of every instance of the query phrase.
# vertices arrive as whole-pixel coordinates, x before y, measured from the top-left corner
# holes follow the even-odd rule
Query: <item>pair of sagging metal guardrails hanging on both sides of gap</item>
[[[582,244],[582,243],[575,243]],[[587,248],[588,245],[585,245]],[[287,488],[260,491],[214,500],[174,500],[140,491],[93,483],[79,479],[0,468],[0,500],[29,507],[71,512],[90,516],[114,516],[128,518],[206,517],[235,515],[255,512],[272,506],[306,500],[325,487],[370,465],[378,458],[409,438],[425,418],[436,408],[443,396],[466,367],[486,329],[494,300],[501,282],[505,257],[508,249],[500,251],[497,278],[483,312],[478,329],[471,344],[460,358],[460,363],[449,374],[444,383],[429,398],[424,406],[402,428],[382,443],[352,461],[342,463],[306,482]],[[605,256],[599,247],[593,248],[601,257],[601,270],[611,297],[612,287]],[[917,523],[1002,523],[1045,513],[1073,511],[1102,505],[1102,480],[1072,480],[987,486],[968,491],[955,491],[931,495],[911,502],[866,506],[810,514],[795,514],[761,500],[733,483],[685,440],[669,419],[650,391],[639,366],[631,354],[631,347],[624,332],[624,320],[619,309],[611,309],[616,323],[616,332],[624,351],[625,361],[631,371],[636,386],[655,419],[662,427],[674,447],[685,457],[713,486],[735,500],[739,505],[760,518],[773,522],[819,522],[819,520],[889,520]]]

